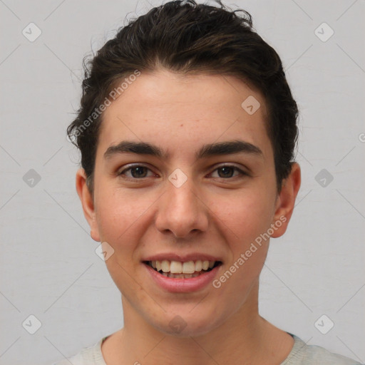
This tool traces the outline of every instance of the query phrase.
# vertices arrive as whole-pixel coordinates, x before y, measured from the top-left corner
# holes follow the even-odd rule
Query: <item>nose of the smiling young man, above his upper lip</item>
[[[193,233],[205,232],[208,227],[207,202],[192,178],[176,187],[170,181],[166,191],[158,200],[155,225],[160,232],[172,232],[175,237],[188,237]]]

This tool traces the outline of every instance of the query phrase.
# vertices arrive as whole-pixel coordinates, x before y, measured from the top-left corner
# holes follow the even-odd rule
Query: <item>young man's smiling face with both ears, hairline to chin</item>
[[[249,96],[260,105],[253,114],[241,106]],[[141,73],[104,112],[94,200],[83,170],[78,193],[91,236],[113,252],[106,265],[123,300],[151,327],[171,334],[181,321],[182,334],[204,334],[257,300],[267,232],[284,233],[299,189],[289,179],[277,195],[265,118],[261,94],[237,78],[168,71]],[[160,155],[112,148],[122,141]],[[221,264],[205,284],[165,287],[144,263],[156,257]]]

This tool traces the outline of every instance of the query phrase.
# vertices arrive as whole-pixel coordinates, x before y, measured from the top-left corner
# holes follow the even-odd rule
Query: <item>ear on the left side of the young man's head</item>
[[[76,190],[83,206],[83,215],[85,215],[88,225],[91,229],[91,238],[97,242],[100,242],[101,239],[96,222],[96,212],[94,209],[93,197],[91,196],[91,192],[88,189],[88,185],[86,185],[86,173],[83,168],[80,168],[76,173]]]

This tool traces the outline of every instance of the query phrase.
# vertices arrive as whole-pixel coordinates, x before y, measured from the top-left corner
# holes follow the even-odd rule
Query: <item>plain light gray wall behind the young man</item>
[[[302,187],[289,230],[269,248],[260,314],[307,344],[364,363],[365,1],[225,4],[250,11],[281,56],[301,112]],[[79,155],[66,127],[81,96],[83,56],[128,13],[150,8],[0,0],[0,364],[51,364],[123,327],[120,292],[76,194]],[[22,34],[31,22],[42,32],[33,42]],[[327,41],[315,32],[323,22],[334,30]],[[329,35],[323,26],[317,32]],[[29,180],[31,169],[41,180]],[[327,177],[317,176],[322,169]],[[315,325],[323,314],[322,331],[334,322],[327,334]],[[31,315],[41,322],[34,334]]]

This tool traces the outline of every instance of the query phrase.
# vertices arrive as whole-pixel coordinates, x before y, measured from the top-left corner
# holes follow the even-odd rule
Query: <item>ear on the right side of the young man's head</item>
[[[294,210],[300,182],[300,166],[298,163],[292,163],[292,170],[289,176],[283,181],[282,190],[277,195],[277,201],[275,202],[275,212],[272,220],[272,226],[274,225],[275,229],[271,237],[280,237],[287,230]]]

